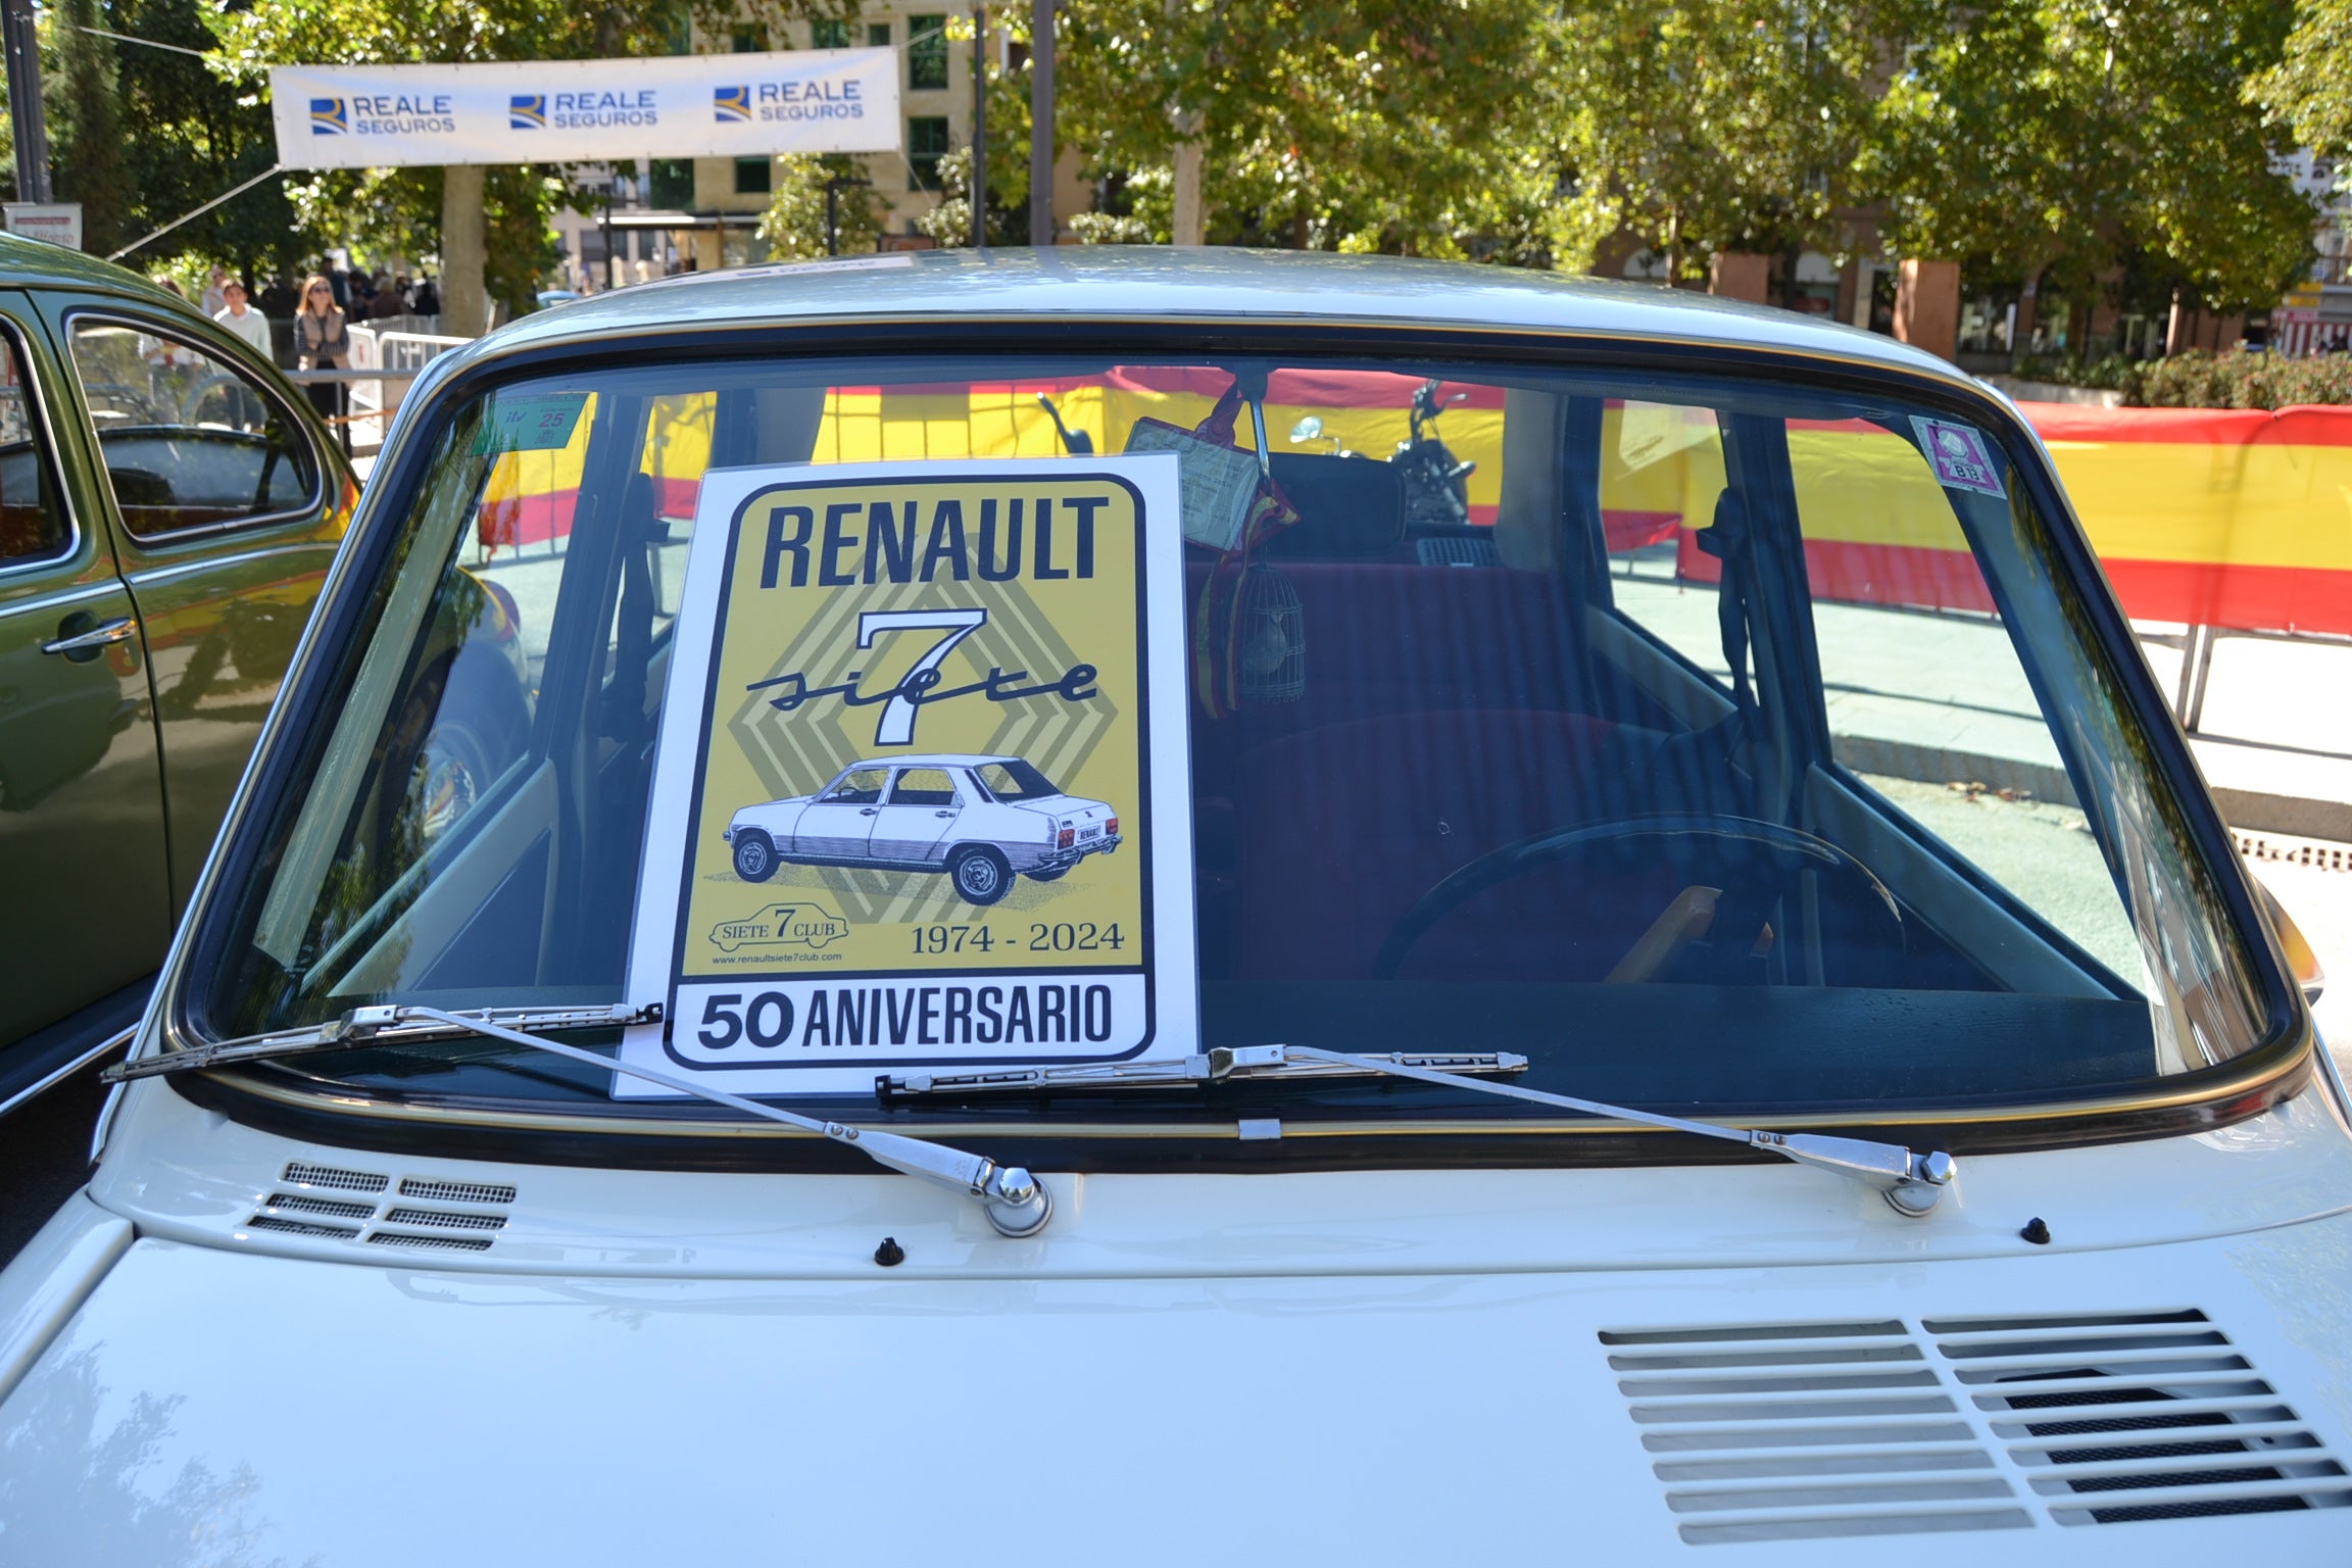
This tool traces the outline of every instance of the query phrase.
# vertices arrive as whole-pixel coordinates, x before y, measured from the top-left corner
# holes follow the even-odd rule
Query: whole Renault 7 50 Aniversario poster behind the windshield
[[[1082,463],[703,480],[630,1060],[870,1093],[1190,1048],[1176,461]]]

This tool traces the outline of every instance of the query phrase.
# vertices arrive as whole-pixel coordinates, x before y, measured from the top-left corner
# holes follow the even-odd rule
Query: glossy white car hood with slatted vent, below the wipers
[[[1214,1180],[1143,1180],[1211,1194],[1247,1251]],[[1341,1274],[1268,1246],[1056,1276],[1002,1248],[967,1279],[656,1279],[139,1239],[0,1403],[0,1559],[2352,1556],[2345,1218],[1780,1269]],[[2009,1380],[2129,1415],[2093,1427],[2009,1410]],[[2176,1401],[2194,1443],[2138,1472],[2201,1467],[2185,1490],[2096,1490],[2133,1483],[2117,1443],[2178,1436],[2150,1432]]]

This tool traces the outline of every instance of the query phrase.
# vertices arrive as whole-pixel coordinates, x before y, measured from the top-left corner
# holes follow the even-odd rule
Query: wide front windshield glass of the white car
[[[1082,473],[1192,442],[1214,451],[1178,465],[1188,701],[1155,762],[1190,827],[1188,973],[1160,976],[1183,1039],[1164,1048],[1515,1051],[1536,1086],[1755,1117],[2079,1100],[2260,1041],[2253,961],[2084,630],[2027,482],[2044,458],[2016,437],[1635,350],[1621,369],[1228,364],[1143,343],[637,364],[445,400],[379,477],[360,555],[381,564],[346,583],[355,630],[322,649],[256,785],[191,1027],[644,1001],[623,987],[649,823],[684,820],[656,799],[656,752],[699,726],[750,757],[694,818],[689,882],[741,891],[722,947],[788,940],[816,964],[898,922],[913,954],[1096,954],[1117,926],[1063,900],[1129,865],[1087,856],[1134,858],[1143,818],[1061,715],[1112,703],[1112,677],[1084,686],[1051,628],[993,621],[908,639],[934,646],[929,675],[783,663],[706,717],[673,661],[696,550],[724,548],[727,515],[699,522],[699,501],[729,470]],[[1204,543],[1195,501],[1232,473],[1272,522]],[[868,583],[898,550],[882,531],[826,550],[814,527],[771,536],[771,576],[800,569],[779,552],[795,538]],[[1040,567],[1044,529],[1040,503]],[[936,607],[960,583],[936,576],[910,569],[898,625],[957,625]],[[884,696],[908,693],[922,715],[950,708],[927,693],[969,693],[962,752],[887,738]],[[762,1001],[729,1039],[795,1027]],[[1070,987],[1073,1037],[1091,1006]],[[659,1110],[557,1070],[310,1070],[435,1105]],[[1461,1114],[1411,1088],[1385,1105]]]

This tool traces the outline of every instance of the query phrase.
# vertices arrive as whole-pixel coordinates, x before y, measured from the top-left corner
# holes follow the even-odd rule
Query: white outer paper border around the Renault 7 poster
[[[661,736],[654,752],[654,790],[647,804],[644,863],[637,875],[637,910],[630,926],[628,997],[640,1006],[668,1009],[677,971],[677,905],[684,886],[687,835],[691,832],[696,766],[701,762],[701,715],[708,701],[713,630],[727,576],[727,536],[736,508],[769,484],[856,484],[861,480],[1070,480],[1098,473],[1124,480],[1143,496],[1143,604],[1148,658],[1143,726],[1150,741],[1150,917],[1152,1037],[1129,1060],[1190,1056],[1200,1037],[1197,936],[1192,922],[1192,731],[1185,677],[1183,538],[1178,534],[1178,473],[1171,454],[1084,458],[960,458],[924,463],[783,463],[764,468],[713,468],[703,475],[694,508],[694,545],[675,621],[670,686],[661,703]],[[1084,978],[1073,976],[1073,978]],[[621,1060],[668,1072],[701,1072],[666,1048],[675,1020],[623,1032]],[[684,1025],[677,1025],[684,1027]],[[941,1067],[1004,1060],[1004,1046],[962,1056],[938,1051]],[[1018,1060],[1101,1060],[1040,1046],[1016,1051]],[[875,1065],[708,1070],[710,1081],[741,1095],[873,1095]],[[670,1091],[614,1074],[614,1098],[673,1098]]]

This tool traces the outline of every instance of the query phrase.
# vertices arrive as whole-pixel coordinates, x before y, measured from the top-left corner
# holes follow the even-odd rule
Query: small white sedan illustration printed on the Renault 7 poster
[[[783,860],[948,872],[964,903],[985,907],[1016,875],[1054,882],[1108,856],[1120,818],[1021,757],[929,755],[856,762],[816,795],[743,806],[720,837],[743,882],[767,882]]]

